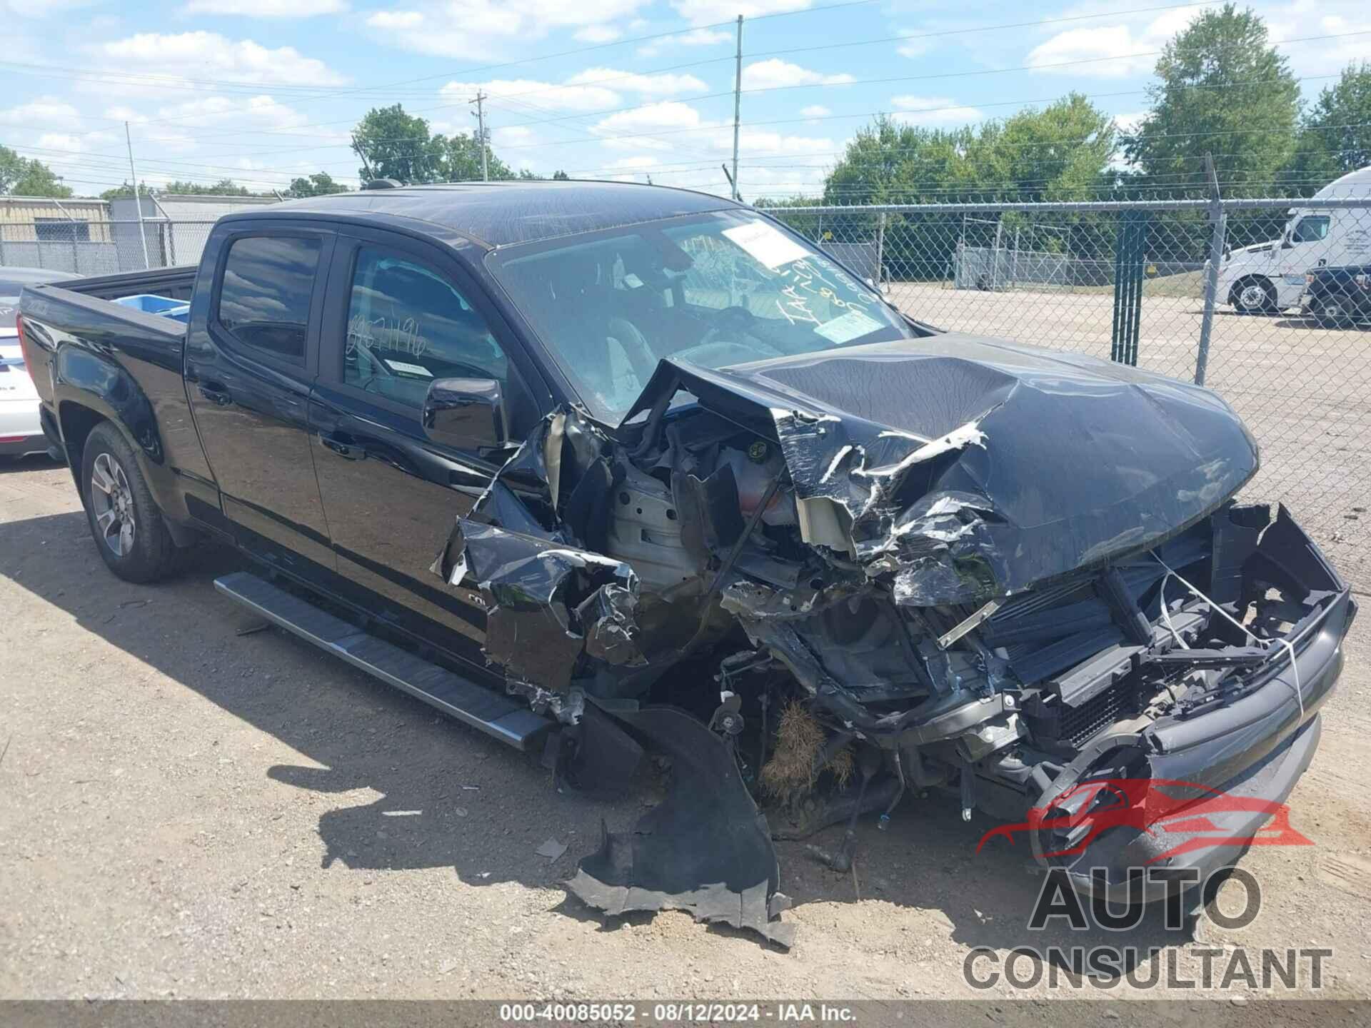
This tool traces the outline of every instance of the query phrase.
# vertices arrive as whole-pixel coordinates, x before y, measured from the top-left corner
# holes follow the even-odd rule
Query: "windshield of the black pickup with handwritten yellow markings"
[[[510,247],[488,265],[607,424],[664,356],[718,369],[914,334],[832,259],[742,211]]]

